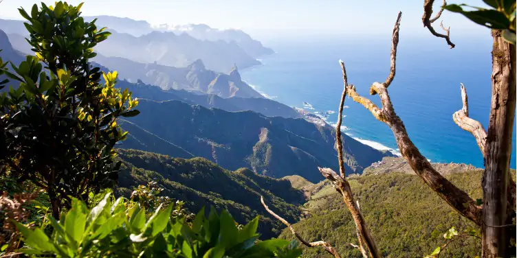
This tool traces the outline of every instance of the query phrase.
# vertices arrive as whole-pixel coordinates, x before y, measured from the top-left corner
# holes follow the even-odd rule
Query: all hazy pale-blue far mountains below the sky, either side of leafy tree
[[[260,65],[256,60],[273,51],[248,34],[237,30],[158,30],[145,21],[135,21],[113,16],[86,17],[98,19],[98,27],[108,27],[112,35],[96,46],[98,54],[127,58],[135,62],[155,63],[173,67],[186,67],[198,59],[208,69],[225,72],[235,65],[246,68]],[[207,26],[208,27],[208,26]],[[25,41],[28,36],[23,21],[0,19],[0,30],[9,34],[19,51],[30,53]],[[190,33],[191,34],[190,34]],[[205,35],[206,34],[206,35]],[[195,35],[195,36],[192,36]]]

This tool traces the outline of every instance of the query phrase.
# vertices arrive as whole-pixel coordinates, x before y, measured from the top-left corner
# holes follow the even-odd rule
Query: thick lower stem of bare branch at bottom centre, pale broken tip
[[[342,178],[332,169],[327,167],[318,167],[318,169],[320,169],[320,173],[325,176],[325,178],[331,181],[334,188],[336,188],[336,191],[341,193],[343,196],[344,204],[347,205],[347,208],[352,214],[353,221],[355,222],[355,228],[357,228],[359,233],[358,235],[360,235],[359,239],[360,241],[364,241],[364,246],[366,246],[368,249],[370,257],[380,258],[381,255],[379,250],[377,250],[375,240],[371,236],[368,226],[366,226],[366,221],[364,220],[357,203],[355,203],[353,200],[352,190],[348,181],[345,178]]]

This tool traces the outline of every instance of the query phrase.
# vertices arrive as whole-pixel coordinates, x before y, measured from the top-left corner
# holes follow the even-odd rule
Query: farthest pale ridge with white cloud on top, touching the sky
[[[188,24],[188,25],[159,25],[155,30],[174,32],[175,34],[186,33],[199,40],[224,40],[231,43],[234,41],[250,56],[258,58],[259,56],[273,54],[274,51],[268,47],[264,47],[258,40],[254,40],[250,35],[242,30],[217,30],[205,24]]]

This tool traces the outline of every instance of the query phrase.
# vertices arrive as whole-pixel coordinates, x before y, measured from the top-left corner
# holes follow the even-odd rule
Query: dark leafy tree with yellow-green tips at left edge
[[[41,3],[30,14],[19,9],[35,56],[11,65],[14,72],[0,64],[0,73],[19,82],[0,95],[0,166],[44,189],[55,218],[71,197],[87,202],[115,185],[120,161],[113,147],[127,133],[116,119],[139,113],[137,99],[115,88],[117,73],[100,73],[89,63],[93,47],[110,34],[83,20],[82,5]]]

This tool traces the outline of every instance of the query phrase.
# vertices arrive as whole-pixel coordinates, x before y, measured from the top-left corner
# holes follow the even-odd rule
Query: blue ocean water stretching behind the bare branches
[[[391,35],[390,35],[391,36]],[[265,56],[263,65],[242,71],[243,80],[278,102],[311,111],[338,111],[343,89],[338,60],[347,67],[349,84],[358,93],[380,105],[369,95],[372,82],[384,82],[389,73],[391,38],[313,38],[272,40],[276,54]],[[388,89],[399,117],[412,141],[432,162],[467,163],[483,167],[483,157],[474,137],[461,130],[452,114],[462,106],[460,82],[469,97],[470,117],[487,128],[491,97],[492,39],[456,38],[456,48],[445,41],[402,38],[397,53],[397,75]],[[391,130],[373,118],[360,104],[347,98],[342,130],[356,139],[397,150]],[[336,123],[337,113],[329,116]],[[515,128],[514,128],[515,129]],[[513,144],[515,150],[515,130]],[[515,153],[511,167],[516,167]]]

